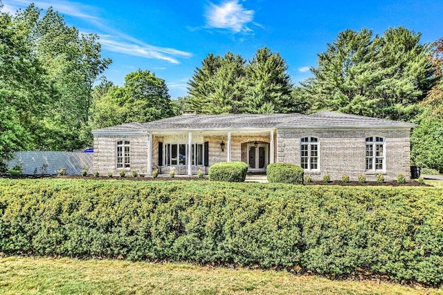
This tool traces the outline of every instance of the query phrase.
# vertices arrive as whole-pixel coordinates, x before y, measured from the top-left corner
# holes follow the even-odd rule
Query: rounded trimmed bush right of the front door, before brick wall
[[[302,167],[293,164],[274,163],[266,168],[266,177],[269,182],[303,184],[303,173],[305,171]]]

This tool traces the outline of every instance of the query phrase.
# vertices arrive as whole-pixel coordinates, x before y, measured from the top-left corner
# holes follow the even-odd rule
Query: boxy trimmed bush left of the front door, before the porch
[[[244,182],[247,171],[245,162],[219,162],[209,167],[209,180]]]

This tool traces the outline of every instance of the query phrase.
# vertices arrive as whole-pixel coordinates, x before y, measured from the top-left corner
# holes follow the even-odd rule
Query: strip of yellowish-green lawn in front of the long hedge
[[[0,258],[0,294],[443,294],[374,281],[123,260]]]

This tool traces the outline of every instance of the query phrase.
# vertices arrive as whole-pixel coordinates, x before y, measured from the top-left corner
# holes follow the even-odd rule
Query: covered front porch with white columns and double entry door
[[[275,131],[167,131],[148,136],[148,174],[208,174],[217,162],[242,161],[248,172],[265,172],[275,162]]]

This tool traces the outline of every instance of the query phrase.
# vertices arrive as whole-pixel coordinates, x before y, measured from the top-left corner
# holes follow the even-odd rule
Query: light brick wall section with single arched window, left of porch
[[[116,144],[119,140],[129,140],[130,169],[117,169]],[[157,148],[158,149],[158,148]],[[152,149],[154,151],[154,147]],[[154,158],[152,159],[154,160]],[[93,152],[93,169],[101,175],[123,171],[147,172],[147,135],[95,135]]]

